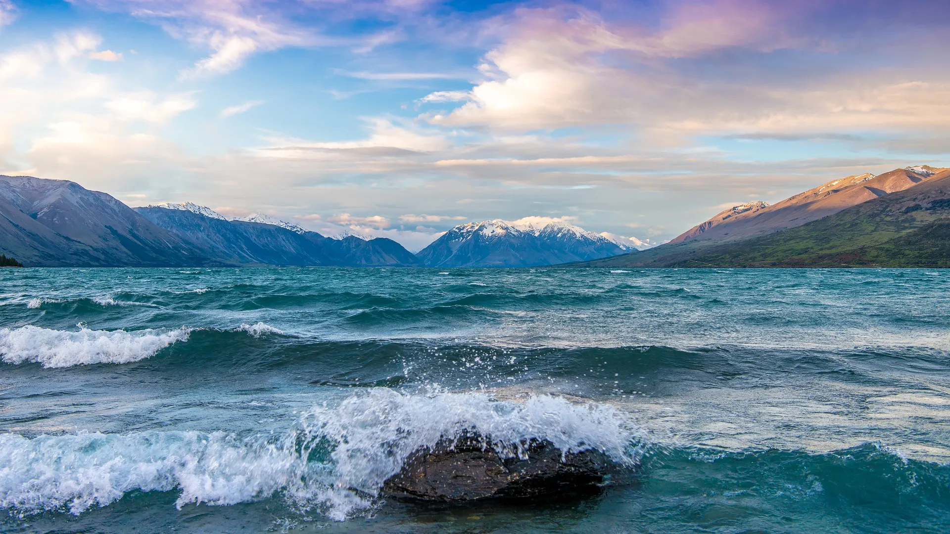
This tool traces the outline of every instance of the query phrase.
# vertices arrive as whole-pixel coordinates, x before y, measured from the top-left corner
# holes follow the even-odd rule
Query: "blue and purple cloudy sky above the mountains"
[[[950,166],[945,0],[0,0],[0,174],[419,250]]]

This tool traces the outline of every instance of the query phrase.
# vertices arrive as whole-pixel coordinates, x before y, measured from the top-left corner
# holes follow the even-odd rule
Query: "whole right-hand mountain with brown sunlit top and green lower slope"
[[[918,165],[741,204],[648,251],[572,266],[950,266],[948,234],[950,169]]]

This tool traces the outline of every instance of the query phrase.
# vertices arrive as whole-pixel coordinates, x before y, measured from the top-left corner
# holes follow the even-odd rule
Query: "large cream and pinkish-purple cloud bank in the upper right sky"
[[[854,135],[842,131],[847,129],[948,123],[945,70],[876,69],[867,58],[855,62],[865,66],[852,67],[841,52],[833,61],[827,50],[858,45],[834,33],[809,33],[817,32],[810,28],[815,21],[802,21],[818,4],[714,0],[666,6],[652,28],[622,18],[608,22],[576,8],[517,10],[502,42],[485,53],[481,81],[467,92],[422,99],[447,102],[452,96],[464,104],[420,118],[495,132],[616,124],[657,144],[683,143],[693,135],[842,136]],[[906,48],[902,35],[874,34],[873,46]],[[862,39],[872,38],[854,37]],[[775,53],[784,48],[798,55]],[[856,49],[848,54],[867,55]],[[727,67],[728,75],[703,65]],[[778,67],[796,75],[769,75],[769,69],[781,72]]]

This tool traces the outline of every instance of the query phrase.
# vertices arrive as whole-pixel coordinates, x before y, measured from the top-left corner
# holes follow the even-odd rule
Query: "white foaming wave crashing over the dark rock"
[[[504,457],[529,440],[564,451],[598,449],[637,464],[637,429],[613,407],[483,393],[409,395],[376,388],[316,407],[279,436],[143,431],[27,438],[0,435],[0,507],[19,515],[80,514],[126,492],[179,490],[176,505],[234,505],[282,494],[301,509],[345,520],[378,502],[383,483],[417,448],[476,429]]]

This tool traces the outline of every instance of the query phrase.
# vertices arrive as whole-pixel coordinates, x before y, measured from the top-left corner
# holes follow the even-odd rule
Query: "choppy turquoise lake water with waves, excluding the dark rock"
[[[950,273],[0,270],[3,532],[946,532]],[[594,497],[378,497],[476,428]]]

